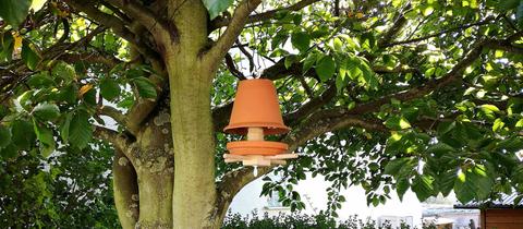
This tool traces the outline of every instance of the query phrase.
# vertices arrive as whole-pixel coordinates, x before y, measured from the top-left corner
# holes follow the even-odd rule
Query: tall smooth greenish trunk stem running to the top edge
[[[179,40],[162,39],[160,44],[166,48],[170,83],[173,228],[219,228],[221,220],[215,217],[215,141],[210,116],[215,72],[202,61],[207,45],[207,11],[202,1],[184,1],[177,7],[172,19]]]

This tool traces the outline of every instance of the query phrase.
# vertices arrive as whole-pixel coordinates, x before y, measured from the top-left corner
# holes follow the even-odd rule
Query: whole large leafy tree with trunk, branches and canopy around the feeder
[[[293,129],[278,140],[303,153],[263,169],[290,184],[266,178],[264,193],[292,208],[305,172],[332,182],[332,216],[353,184],[375,205],[392,189],[422,201],[523,193],[518,0],[1,4],[2,158],[110,143],[123,228],[220,227],[255,179],[223,164],[234,136],[221,130],[235,81],[259,70]]]

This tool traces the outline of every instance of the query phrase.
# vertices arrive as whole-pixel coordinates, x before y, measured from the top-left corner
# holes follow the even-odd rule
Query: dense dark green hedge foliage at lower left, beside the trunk
[[[0,161],[0,224],[4,228],[119,228],[113,206],[113,152],[105,144],[60,147]]]

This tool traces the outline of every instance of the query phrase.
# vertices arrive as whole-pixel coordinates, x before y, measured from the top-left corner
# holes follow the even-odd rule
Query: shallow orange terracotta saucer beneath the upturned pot
[[[278,155],[287,152],[289,145],[269,141],[239,141],[227,143],[227,149],[233,155]]]

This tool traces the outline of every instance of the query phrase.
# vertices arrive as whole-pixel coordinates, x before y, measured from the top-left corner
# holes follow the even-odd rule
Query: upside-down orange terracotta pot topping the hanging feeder
[[[283,124],[276,87],[270,80],[241,81],[226,133],[247,134],[248,128],[263,128],[265,135],[289,132]]]

